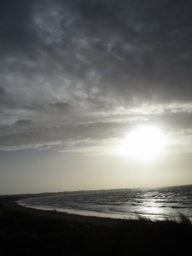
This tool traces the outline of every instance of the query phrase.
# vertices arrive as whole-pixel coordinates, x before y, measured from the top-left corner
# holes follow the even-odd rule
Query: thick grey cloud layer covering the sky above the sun
[[[190,129],[192,3],[1,3],[0,146]],[[174,125],[174,126],[173,126]]]

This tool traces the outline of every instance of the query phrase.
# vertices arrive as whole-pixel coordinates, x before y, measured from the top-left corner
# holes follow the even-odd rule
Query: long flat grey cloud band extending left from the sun
[[[32,148],[54,143],[75,143],[79,141],[92,142],[125,134],[128,124],[93,123],[84,125],[55,125],[29,128],[30,120],[16,122],[18,129],[13,125],[0,127],[1,149]],[[20,126],[23,128],[20,130]],[[27,127],[26,127],[27,126]]]

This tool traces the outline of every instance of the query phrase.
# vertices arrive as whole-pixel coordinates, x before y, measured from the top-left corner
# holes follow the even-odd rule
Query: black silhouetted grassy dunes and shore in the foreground
[[[164,221],[81,218],[15,206],[0,198],[1,255],[188,255],[192,224],[180,214]],[[71,218],[70,218],[71,217]],[[73,217],[73,218],[72,218]]]

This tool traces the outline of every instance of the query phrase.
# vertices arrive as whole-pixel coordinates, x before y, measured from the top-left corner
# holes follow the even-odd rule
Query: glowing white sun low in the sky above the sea
[[[143,126],[125,137],[120,154],[148,160],[160,154],[166,143],[166,135],[157,127]]]

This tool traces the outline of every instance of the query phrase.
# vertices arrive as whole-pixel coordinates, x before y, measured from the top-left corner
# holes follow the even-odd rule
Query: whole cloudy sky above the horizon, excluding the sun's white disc
[[[0,195],[192,183],[189,0],[0,1]],[[119,153],[139,127],[153,160]]]

